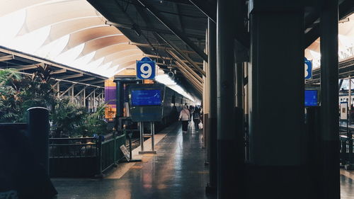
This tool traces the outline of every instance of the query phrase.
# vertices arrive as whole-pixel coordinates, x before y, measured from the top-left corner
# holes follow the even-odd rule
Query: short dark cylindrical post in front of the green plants
[[[33,145],[35,158],[49,175],[49,112],[47,108],[34,107],[28,110],[26,136]]]

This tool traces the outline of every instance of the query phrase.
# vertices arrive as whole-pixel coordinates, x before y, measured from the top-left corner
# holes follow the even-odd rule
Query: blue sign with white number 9
[[[155,62],[149,57],[144,57],[141,61],[137,61],[137,79],[155,79],[155,65]]]

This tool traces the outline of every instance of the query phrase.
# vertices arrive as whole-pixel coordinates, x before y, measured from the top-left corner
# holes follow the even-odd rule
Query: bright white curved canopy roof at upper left
[[[113,76],[143,53],[85,0],[3,0],[0,45]]]

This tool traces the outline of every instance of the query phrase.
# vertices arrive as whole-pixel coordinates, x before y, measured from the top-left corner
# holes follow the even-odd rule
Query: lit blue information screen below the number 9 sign
[[[132,106],[161,106],[161,90],[132,90]]]

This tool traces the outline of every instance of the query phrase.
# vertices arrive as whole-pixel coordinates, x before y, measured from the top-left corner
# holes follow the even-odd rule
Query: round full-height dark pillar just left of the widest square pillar
[[[235,2],[217,1],[217,198],[237,198],[234,114]],[[212,96],[212,95],[211,95]]]

